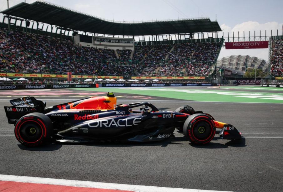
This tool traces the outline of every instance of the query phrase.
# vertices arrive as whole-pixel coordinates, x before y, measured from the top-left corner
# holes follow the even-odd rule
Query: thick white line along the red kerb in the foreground
[[[172,191],[174,192],[216,192],[214,190],[182,189],[182,188],[169,188],[169,187],[154,187],[154,186],[145,186],[145,185],[100,183],[100,182],[92,182],[92,181],[50,179],[50,178],[41,178],[41,177],[26,177],[26,176],[1,175],[1,174],[0,174],[0,180],[1,181],[23,182],[23,183],[64,185],[64,186],[72,186],[72,187],[128,190],[128,191],[139,191],[139,192],[172,192]],[[217,191],[217,192],[220,192],[220,191]]]

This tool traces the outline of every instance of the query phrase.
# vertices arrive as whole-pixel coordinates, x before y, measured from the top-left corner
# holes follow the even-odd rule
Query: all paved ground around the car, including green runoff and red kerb
[[[52,106],[86,96],[103,96],[108,91],[115,93],[118,104],[146,100],[160,110],[169,111],[188,104],[195,110],[210,113],[216,120],[234,125],[242,132],[245,141],[233,144],[221,140],[216,134],[208,145],[196,146],[175,131],[175,137],[158,143],[54,143],[26,148],[16,140],[13,125],[7,123],[5,112],[1,110],[0,191],[15,191],[15,187],[30,191],[30,183],[42,184],[34,185],[35,190],[40,187],[50,189],[48,191],[58,191],[60,186],[79,187],[66,187],[64,191],[281,191],[283,89],[259,88],[217,86],[1,91],[2,109],[9,105],[11,98],[22,96],[33,95],[47,101],[47,106]],[[126,93],[128,91],[132,93]],[[221,91],[229,94],[220,94]],[[169,94],[171,92],[173,96]],[[246,97],[256,96],[251,94],[261,96]],[[25,186],[20,186],[23,183]]]

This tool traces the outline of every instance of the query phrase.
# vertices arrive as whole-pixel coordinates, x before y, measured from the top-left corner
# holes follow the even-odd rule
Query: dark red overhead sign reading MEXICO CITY
[[[225,42],[225,49],[263,49],[268,48],[268,41]]]

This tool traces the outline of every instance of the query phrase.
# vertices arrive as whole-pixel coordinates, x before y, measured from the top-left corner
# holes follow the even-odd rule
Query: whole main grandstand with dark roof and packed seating
[[[219,24],[209,18],[119,23],[43,1],[19,3],[1,13],[4,18],[9,15],[11,21],[14,20],[8,26],[6,23],[1,24],[0,72],[3,73],[72,72],[75,75],[113,75],[126,78],[207,76],[217,60],[223,42],[220,38],[194,39],[192,36],[193,33],[201,33],[203,37],[203,33],[221,31]],[[51,15],[57,17],[50,17]],[[17,25],[18,21],[21,21],[20,25]],[[48,32],[48,27],[46,31],[43,26],[39,29],[38,22],[51,25],[52,29],[59,27],[54,34]],[[36,29],[33,29],[34,23]],[[113,34],[112,37],[104,35],[106,28],[108,34]],[[77,31],[86,31],[91,36],[96,36],[91,38],[78,34]],[[168,34],[166,36],[169,40],[163,39],[162,34]],[[73,38],[69,38],[70,35]],[[135,35],[151,35],[152,38],[148,42],[135,42],[134,49],[127,49],[121,42],[133,41],[126,38],[123,40],[121,37],[115,40],[115,35],[128,35],[131,39]],[[172,35],[175,40],[172,40]],[[190,38],[181,39],[182,35]],[[159,36],[162,40],[159,40]],[[119,46],[115,45],[116,41],[119,41]],[[108,49],[104,44],[112,47]]]

